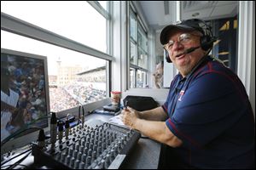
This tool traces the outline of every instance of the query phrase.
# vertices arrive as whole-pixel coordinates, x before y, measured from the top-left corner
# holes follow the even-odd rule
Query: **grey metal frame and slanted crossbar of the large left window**
[[[88,2],[89,3],[89,2]],[[110,35],[111,35],[111,30],[112,30],[112,20],[111,20],[111,13],[108,13],[100,3],[98,2],[91,2],[89,3],[92,5],[96,10],[102,14],[106,18],[106,23],[107,23],[107,44],[110,44],[109,42],[112,41]],[[111,6],[111,2],[107,3],[108,8]],[[67,37],[63,37],[61,35],[58,35],[57,33],[53,31],[48,31],[44,28],[41,28],[39,26],[32,25],[29,22],[26,22],[25,20],[20,20],[18,18],[15,18],[12,15],[5,14],[1,12],[1,30],[3,31],[8,31],[10,33],[14,33],[16,35],[20,35],[22,37],[29,37],[34,40],[38,40],[40,42],[47,42],[49,44],[53,44],[55,46],[61,47],[61,48],[67,48],[82,54],[88,54],[90,56],[99,58],[99,59],[105,59],[107,61],[106,64],[106,94],[107,98],[109,97],[110,90],[111,90],[111,68],[113,65],[113,56],[111,55],[111,45],[108,45],[107,47],[107,53],[103,53],[102,51],[99,51],[95,48],[90,48],[89,46],[86,46],[80,42],[73,41],[72,39],[69,39]],[[98,103],[99,105],[106,105],[108,104],[109,99],[102,99],[94,103]],[[95,104],[86,104],[86,105],[91,105],[90,107],[94,108],[96,107]],[[88,108],[89,111],[91,110],[90,107]],[[77,108],[71,108],[67,109],[65,111],[60,111],[58,114],[60,115],[65,115],[67,114],[67,111],[72,113],[72,112],[77,112]],[[86,109],[87,110],[87,109]],[[87,112],[86,112],[87,113]]]

